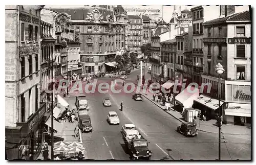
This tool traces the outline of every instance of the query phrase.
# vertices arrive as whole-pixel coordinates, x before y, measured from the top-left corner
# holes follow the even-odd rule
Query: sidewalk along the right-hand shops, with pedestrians
[[[137,85],[137,82],[135,84]],[[140,91],[137,91],[137,92],[140,92]],[[159,108],[164,110],[166,113],[175,117],[175,119],[179,120],[180,122],[185,122],[184,118],[182,116],[182,113],[180,113],[172,108],[174,106],[173,104],[171,104],[171,108],[170,108],[171,110],[166,111],[165,106],[161,105],[160,103],[157,103],[156,101],[153,101],[153,93],[151,93],[147,90],[144,93],[141,92],[141,94],[143,97],[150,100],[152,103],[157,105]],[[200,121],[200,123],[198,124],[199,126],[197,126],[197,129],[200,131],[203,131],[203,132],[208,132],[208,133],[218,133],[219,128],[214,125],[215,123],[216,123],[216,120]],[[231,135],[250,135],[251,128],[246,127],[246,126],[234,126],[234,125],[227,124],[227,125],[223,125],[222,132],[225,134],[231,134]]]

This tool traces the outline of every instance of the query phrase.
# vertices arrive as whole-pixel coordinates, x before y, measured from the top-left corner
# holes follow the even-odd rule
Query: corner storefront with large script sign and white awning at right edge
[[[223,120],[227,124],[251,125],[251,83],[226,81],[226,102]]]

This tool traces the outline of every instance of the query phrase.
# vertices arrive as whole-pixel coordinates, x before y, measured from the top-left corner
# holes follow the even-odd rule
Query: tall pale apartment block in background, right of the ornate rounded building
[[[128,51],[139,55],[143,44],[142,18],[138,15],[128,15],[128,18]]]

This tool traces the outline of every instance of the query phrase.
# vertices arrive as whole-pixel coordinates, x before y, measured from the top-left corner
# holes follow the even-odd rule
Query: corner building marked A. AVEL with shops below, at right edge
[[[206,21],[204,24],[204,74],[202,82],[211,83],[210,93],[203,93],[199,107],[206,114],[218,113],[218,74],[220,62],[225,72],[220,76],[223,120],[229,124],[251,123],[251,22],[249,11]],[[206,88],[205,88],[206,90]],[[203,104],[207,100],[210,103]]]

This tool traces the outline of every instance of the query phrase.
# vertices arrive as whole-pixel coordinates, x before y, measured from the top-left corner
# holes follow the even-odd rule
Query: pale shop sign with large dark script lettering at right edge
[[[250,85],[227,84],[226,101],[251,102]]]

